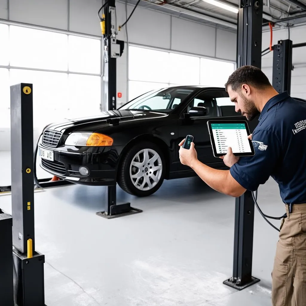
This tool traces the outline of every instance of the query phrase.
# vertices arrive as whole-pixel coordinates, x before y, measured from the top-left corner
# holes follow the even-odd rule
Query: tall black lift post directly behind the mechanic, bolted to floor
[[[243,2],[245,6],[240,1],[238,13],[237,68],[243,65],[261,68],[263,0]],[[251,191],[236,198],[233,276],[223,284],[237,290],[260,281],[252,277],[254,208]]]

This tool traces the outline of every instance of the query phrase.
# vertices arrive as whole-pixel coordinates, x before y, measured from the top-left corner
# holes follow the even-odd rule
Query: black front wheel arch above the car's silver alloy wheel
[[[130,150],[130,148],[134,144],[139,143],[140,141],[149,141],[149,142],[152,142],[152,143],[158,145],[161,148],[162,153],[164,154],[164,158],[165,158],[165,179],[168,179],[169,178],[169,172],[170,172],[170,161],[171,161],[170,150],[169,150],[167,144],[162,139],[160,139],[157,136],[154,136],[153,134],[148,133],[148,134],[142,134],[142,135],[136,136],[135,138],[130,140],[125,145],[123,150],[121,151],[120,156],[118,158],[118,164],[117,164],[117,181],[118,181],[118,175],[119,175],[118,168],[122,163],[122,159],[124,158],[125,154]]]

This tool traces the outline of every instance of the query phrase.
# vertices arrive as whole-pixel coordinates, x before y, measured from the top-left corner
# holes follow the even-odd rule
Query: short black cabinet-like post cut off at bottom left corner
[[[14,306],[12,226],[12,217],[0,209],[0,304],[7,306]]]

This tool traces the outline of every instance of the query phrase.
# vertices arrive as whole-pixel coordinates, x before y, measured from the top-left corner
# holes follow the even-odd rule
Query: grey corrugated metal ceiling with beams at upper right
[[[136,4],[137,0],[127,0]],[[239,0],[218,0],[238,8]],[[236,31],[237,13],[219,8],[205,0],[141,0],[139,6],[170,13],[204,24]],[[298,16],[304,17],[299,17]],[[280,22],[280,19],[290,20]],[[293,19],[294,18],[294,19]],[[275,27],[290,27],[306,22],[306,0],[263,0],[263,30],[268,28],[268,21],[274,21]]]

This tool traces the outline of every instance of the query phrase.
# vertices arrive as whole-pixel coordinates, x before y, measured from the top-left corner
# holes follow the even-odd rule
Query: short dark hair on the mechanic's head
[[[242,84],[248,84],[258,89],[271,86],[267,76],[257,67],[246,65],[236,69],[228,78],[225,90],[230,85],[233,91],[237,91]]]

